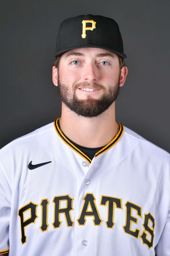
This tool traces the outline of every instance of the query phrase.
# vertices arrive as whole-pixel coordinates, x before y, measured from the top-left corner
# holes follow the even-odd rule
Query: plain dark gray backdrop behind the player
[[[61,116],[52,83],[60,23],[94,14],[117,21],[128,76],[116,120],[170,152],[169,0],[1,1],[0,148]]]

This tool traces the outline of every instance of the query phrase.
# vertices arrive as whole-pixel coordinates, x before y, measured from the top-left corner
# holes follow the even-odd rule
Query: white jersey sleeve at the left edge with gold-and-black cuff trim
[[[0,164],[0,255],[9,252],[9,223],[11,213],[10,180]]]

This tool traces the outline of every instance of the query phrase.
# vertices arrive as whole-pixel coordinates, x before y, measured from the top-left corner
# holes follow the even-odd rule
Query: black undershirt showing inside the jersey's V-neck
[[[58,126],[60,127],[60,124],[59,124],[59,119],[58,119]],[[61,127],[60,127],[60,130],[61,130]],[[62,132],[63,133],[63,132]],[[63,133],[64,134],[64,133]],[[72,140],[70,140],[66,134],[64,134],[64,136],[74,145],[76,146],[78,149],[80,149],[85,155],[87,155],[91,160],[94,158],[95,154],[101,150],[102,148],[104,148],[104,146],[101,146],[99,148],[86,148],[84,146],[80,146],[78,145],[77,143],[73,142]]]

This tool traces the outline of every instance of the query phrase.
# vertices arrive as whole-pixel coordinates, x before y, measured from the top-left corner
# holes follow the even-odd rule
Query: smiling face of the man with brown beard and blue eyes
[[[117,98],[120,75],[117,54],[101,48],[70,50],[57,68],[58,95],[78,115],[96,117]]]

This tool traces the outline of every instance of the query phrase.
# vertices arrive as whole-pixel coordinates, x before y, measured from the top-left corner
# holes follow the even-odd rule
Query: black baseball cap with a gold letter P
[[[55,57],[83,47],[103,48],[122,59],[126,58],[117,22],[101,15],[79,15],[62,21],[57,34]]]

